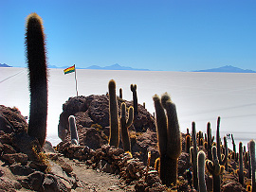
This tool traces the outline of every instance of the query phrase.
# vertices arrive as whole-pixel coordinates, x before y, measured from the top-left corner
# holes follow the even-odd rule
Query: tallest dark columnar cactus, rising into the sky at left
[[[27,16],[26,47],[30,91],[30,113],[27,134],[46,142],[47,66],[43,20],[36,13]]]

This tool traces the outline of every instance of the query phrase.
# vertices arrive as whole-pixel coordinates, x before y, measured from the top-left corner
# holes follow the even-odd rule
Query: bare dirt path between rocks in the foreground
[[[64,157],[62,159],[73,167],[73,172],[82,181],[82,187],[77,188],[75,191],[135,191],[132,186],[124,187],[116,175],[87,168],[82,162],[69,160]]]

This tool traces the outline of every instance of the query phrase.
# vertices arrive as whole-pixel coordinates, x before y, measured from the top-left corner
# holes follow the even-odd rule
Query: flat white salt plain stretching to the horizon
[[[70,96],[76,96],[74,73],[64,75],[63,69],[49,69],[47,140],[60,142],[58,122],[62,105]],[[138,103],[146,103],[150,113],[155,112],[152,96],[168,92],[178,113],[180,129],[206,132],[210,121],[212,134],[216,120],[221,116],[221,137],[232,133],[238,146],[247,146],[256,139],[256,74],[105,71],[77,70],[80,96],[103,95],[108,81],[115,79],[117,94],[121,87],[123,98],[132,100],[130,84],[137,84]],[[29,114],[29,92],[26,68],[0,68],[0,105],[17,107],[23,115]],[[231,140],[228,140],[231,148]]]

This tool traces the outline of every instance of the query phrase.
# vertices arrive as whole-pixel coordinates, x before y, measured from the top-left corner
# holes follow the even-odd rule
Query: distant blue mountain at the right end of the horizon
[[[220,72],[220,73],[256,73],[256,71],[252,71],[250,69],[241,69],[238,67],[234,67],[231,65],[222,66],[219,68],[213,69],[205,69],[205,70],[198,70],[193,72]]]

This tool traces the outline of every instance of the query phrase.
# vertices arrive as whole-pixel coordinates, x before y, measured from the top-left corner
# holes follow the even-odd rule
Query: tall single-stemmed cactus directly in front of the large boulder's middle
[[[116,96],[116,82],[111,79],[108,83],[109,91],[109,125],[110,138],[109,145],[119,148],[119,111]]]

